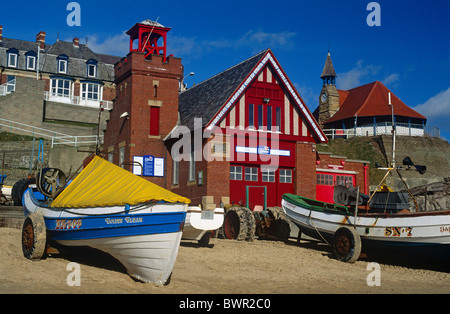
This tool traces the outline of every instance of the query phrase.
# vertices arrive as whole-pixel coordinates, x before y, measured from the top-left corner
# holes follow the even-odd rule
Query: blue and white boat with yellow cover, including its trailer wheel
[[[95,157],[53,202],[38,201],[31,188],[24,193],[24,255],[42,258],[48,241],[89,246],[115,257],[130,276],[164,285],[189,202]]]

